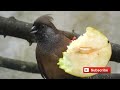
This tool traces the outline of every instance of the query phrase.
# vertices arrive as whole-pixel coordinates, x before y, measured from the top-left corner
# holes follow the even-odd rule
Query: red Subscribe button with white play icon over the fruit
[[[111,73],[111,67],[83,67],[83,73]]]

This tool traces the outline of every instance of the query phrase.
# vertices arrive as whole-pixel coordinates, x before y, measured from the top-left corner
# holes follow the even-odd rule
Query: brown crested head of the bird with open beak
[[[53,18],[49,15],[38,17],[31,28],[30,33],[34,34],[38,41],[51,38],[57,33],[57,29],[52,23]]]

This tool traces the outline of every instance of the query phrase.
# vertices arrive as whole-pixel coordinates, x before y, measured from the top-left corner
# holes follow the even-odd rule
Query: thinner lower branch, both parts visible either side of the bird
[[[0,56],[0,67],[28,72],[28,73],[39,73],[38,66],[36,63],[3,58],[1,56]],[[97,74],[95,76],[91,76],[84,79],[120,79],[120,74]]]

